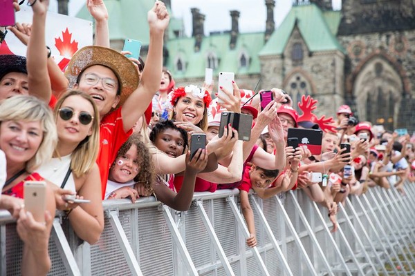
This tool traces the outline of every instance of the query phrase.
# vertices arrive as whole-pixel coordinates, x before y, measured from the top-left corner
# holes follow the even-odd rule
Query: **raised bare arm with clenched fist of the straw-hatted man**
[[[149,53],[138,88],[122,106],[121,114],[125,132],[130,130],[144,114],[160,87],[163,69],[163,37],[169,25],[169,13],[162,1],[156,1],[154,7],[148,12],[147,20],[150,27]]]

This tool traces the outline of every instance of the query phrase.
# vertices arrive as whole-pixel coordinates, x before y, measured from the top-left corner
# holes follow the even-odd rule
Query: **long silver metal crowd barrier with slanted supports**
[[[326,208],[302,191],[251,194],[255,248],[246,246],[236,189],[195,193],[187,212],[154,197],[104,201],[104,232],[92,246],[55,217],[49,275],[412,275],[414,186],[405,184],[405,196],[394,188],[350,196],[335,233]],[[20,274],[21,246],[15,221],[1,211],[1,275]]]

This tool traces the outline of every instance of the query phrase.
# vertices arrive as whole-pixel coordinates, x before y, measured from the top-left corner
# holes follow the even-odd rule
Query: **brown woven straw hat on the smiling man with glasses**
[[[120,102],[116,106],[119,108],[138,87],[136,66],[115,50],[100,46],[86,46],[75,52],[66,68],[65,76],[69,80],[68,87],[73,88],[80,73],[94,65],[105,66],[116,74],[120,85]]]

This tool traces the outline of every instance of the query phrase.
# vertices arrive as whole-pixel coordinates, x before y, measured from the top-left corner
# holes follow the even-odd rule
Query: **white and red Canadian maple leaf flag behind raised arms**
[[[33,12],[30,7],[21,6],[16,13],[16,22],[31,23]],[[68,17],[55,12],[48,12],[46,17],[46,45],[52,51],[59,68],[63,71],[75,52],[92,45],[92,22],[75,17]],[[0,44],[0,55],[20,55],[26,57],[26,46],[8,32],[5,41]]]

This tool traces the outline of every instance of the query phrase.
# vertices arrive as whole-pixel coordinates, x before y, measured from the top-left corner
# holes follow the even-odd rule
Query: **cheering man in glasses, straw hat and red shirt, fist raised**
[[[169,23],[165,4],[156,1],[148,12],[147,20],[150,44],[141,79],[136,65],[127,57],[100,46],[87,46],[78,50],[65,71],[69,88],[91,95],[100,113],[100,152],[97,163],[100,167],[102,198],[109,168],[118,149],[131,135],[131,128],[143,114],[149,123],[149,104],[160,85],[163,35]]]

